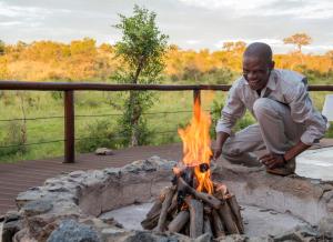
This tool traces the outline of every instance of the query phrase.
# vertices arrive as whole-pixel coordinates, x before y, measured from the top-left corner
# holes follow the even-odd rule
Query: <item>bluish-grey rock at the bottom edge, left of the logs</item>
[[[90,226],[73,220],[63,221],[48,239],[48,242],[100,242],[98,233]]]

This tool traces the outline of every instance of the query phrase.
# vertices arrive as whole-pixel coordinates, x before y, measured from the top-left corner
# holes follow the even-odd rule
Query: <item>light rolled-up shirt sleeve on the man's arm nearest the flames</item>
[[[236,120],[242,118],[244,113],[245,105],[239,97],[236,84],[234,84],[229,90],[229,97],[221,111],[221,119],[219,119],[216,124],[216,132],[225,132],[231,135]]]

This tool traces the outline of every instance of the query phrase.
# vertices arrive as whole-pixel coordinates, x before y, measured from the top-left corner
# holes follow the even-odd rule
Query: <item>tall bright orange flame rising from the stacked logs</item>
[[[201,110],[200,101],[194,102],[194,115],[191,123],[185,129],[179,129],[179,135],[183,141],[182,163],[186,167],[194,167],[194,175],[198,181],[198,191],[205,191],[210,194],[213,192],[211,181],[211,171],[200,171],[200,164],[210,165],[212,157],[210,139],[211,118]]]

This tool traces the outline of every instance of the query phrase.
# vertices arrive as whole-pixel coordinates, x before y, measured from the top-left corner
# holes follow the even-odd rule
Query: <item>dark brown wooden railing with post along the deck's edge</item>
[[[228,91],[223,84],[105,84],[85,82],[22,82],[0,81],[0,90],[63,91],[64,92],[64,163],[73,163],[74,154],[74,91],[193,91],[193,99],[201,90]],[[333,91],[333,85],[310,85],[309,91]]]

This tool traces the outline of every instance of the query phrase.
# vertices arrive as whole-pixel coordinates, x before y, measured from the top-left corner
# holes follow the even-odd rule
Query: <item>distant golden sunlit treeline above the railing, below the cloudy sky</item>
[[[225,42],[221,50],[211,52],[208,49],[182,50],[171,44],[165,56],[165,77],[174,82],[228,83],[241,72],[245,46],[241,41]],[[333,72],[333,50],[321,56],[303,54],[301,51],[275,54],[274,60],[276,68],[323,77],[332,77]],[[90,38],[70,43],[19,41],[6,44],[0,41],[0,80],[108,81],[119,64],[113,46],[97,46],[95,40]]]

